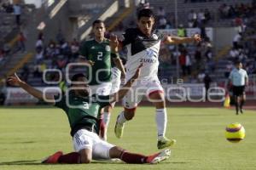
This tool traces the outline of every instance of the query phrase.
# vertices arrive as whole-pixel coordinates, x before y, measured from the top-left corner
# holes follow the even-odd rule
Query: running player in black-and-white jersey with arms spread
[[[160,42],[170,44],[200,42],[201,37],[171,37],[165,36],[158,31],[153,30],[154,13],[149,8],[144,8],[137,14],[137,28],[127,29],[125,31],[125,39],[118,42],[116,39],[116,52],[119,48],[127,47],[127,62],[125,80],[129,80],[135,73],[138,65],[143,63],[142,72],[139,80],[134,84],[128,94],[124,98],[124,111],[117,117],[114,127],[114,133],[117,138],[123,136],[124,125],[126,121],[130,121],[135,115],[137,105],[146,95],[155,106],[156,115],[155,122],[157,124],[158,133],[158,149],[166,148],[175,144],[174,139],[167,139],[166,134],[166,102],[164,90],[157,77],[159,66],[159,50]]]

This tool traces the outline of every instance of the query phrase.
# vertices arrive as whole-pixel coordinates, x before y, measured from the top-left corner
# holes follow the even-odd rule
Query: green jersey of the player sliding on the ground
[[[58,96],[55,99],[58,99]],[[73,92],[55,102],[55,106],[61,108],[67,114],[72,135],[82,127],[91,127],[98,133],[100,111],[107,105],[110,105],[109,95],[99,96],[94,94],[79,97]]]

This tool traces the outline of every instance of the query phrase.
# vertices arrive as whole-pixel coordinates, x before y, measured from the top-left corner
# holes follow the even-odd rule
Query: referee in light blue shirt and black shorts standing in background
[[[236,115],[242,111],[242,106],[246,100],[245,87],[248,85],[247,71],[242,69],[241,61],[235,62],[236,68],[230,72],[228,85],[231,85],[235,97]]]

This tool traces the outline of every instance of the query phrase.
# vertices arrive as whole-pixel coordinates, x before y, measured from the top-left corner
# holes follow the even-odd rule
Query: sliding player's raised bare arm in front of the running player
[[[110,103],[119,101],[120,99],[123,99],[125,97],[125,94],[127,94],[127,92],[130,90],[132,83],[135,82],[137,80],[137,78],[140,76],[142,66],[143,66],[143,64],[138,66],[137,71],[135,72],[134,76],[131,77],[131,79],[125,83],[125,86],[120,88],[117,93],[110,96],[110,99],[111,99]]]

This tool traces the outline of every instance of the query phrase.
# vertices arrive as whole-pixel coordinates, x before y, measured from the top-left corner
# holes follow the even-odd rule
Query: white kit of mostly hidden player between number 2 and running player
[[[112,88],[110,94],[117,93],[120,88],[121,84],[121,71],[119,71],[118,68],[113,67],[111,69],[112,76],[111,76],[111,82],[112,82]]]

